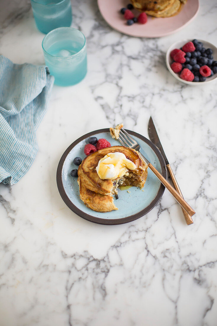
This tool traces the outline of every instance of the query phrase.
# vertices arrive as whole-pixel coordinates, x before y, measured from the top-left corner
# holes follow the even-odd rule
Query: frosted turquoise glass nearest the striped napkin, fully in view
[[[60,86],[75,85],[87,73],[86,39],[72,27],[60,27],[48,33],[42,41],[45,63],[54,83]]]

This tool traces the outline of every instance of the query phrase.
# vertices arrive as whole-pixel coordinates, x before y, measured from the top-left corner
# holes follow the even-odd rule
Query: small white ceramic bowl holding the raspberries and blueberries
[[[197,39],[198,39],[198,38],[197,38]],[[166,66],[167,66],[169,72],[171,72],[171,74],[172,74],[176,79],[178,79],[178,81],[183,82],[183,83],[188,84],[188,85],[200,86],[201,84],[205,84],[205,83],[208,83],[208,82],[213,82],[214,80],[216,80],[216,78],[217,78],[217,74],[214,74],[214,75],[211,76],[211,77],[207,77],[207,79],[206,79],[205,82],[187,82],[187,81],[181,79],[181,78],[179,77],[179,74],[175,73],[175,72],[172,70],[172,68],[170,67],[171,63],[173,62],[173,60],[172,60],[171,57],[170,57],[170,52],[171,52],[172,50],[174,50],[174,49],[180,49],[180,48],[181,48],[183,45],[185,45],[187,42],[191,42],[191,41],[192,41],[192,39],[185,39],[185,40],[181,40],[181,41],[175,42],[175,43],[173,43],[172,45],[170,45],[169,49],[168,49],[167,52],[166,52]],[[207,42],[207,41],[200,40],[200,39],[198,39],[198,41],[203,43],[204,48],[206,48],[206,49],[208,49],[208,48],[212,49],[212,52],[213,52],[213,54],[212,54],[212,56],[213,56],[213,60],[214,60],[214,61],[217,61],[217,48],[216,48],[213,44],[211,44],[211,43],[209,43],[209,42]]]

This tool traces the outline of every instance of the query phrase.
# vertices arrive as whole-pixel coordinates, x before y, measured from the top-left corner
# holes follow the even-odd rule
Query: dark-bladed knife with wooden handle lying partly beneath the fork
[[[170,179],[171,179],[171,181],[172,181],[172,183],[174,185],[174,188],[182,196],[182,193],[181,193],[180,187],[179,187],[179,185],[178,185],[178,183],[176,181],[175,175],[174,175],[174,173],[173,173],[173,171],[171,169],[171,166],[170,166],[170,164],[168,162],[166,154],[164,153],[164,150],[163,150],[163,147],[161,145],[160,139],[158,137],[157,131],[155,129],[152,117],[150,117],[150,119],[149,119],[148,134],[149,134],[150,140],[159,149],[159,151],[161,152],[161,155],[164,158],[164,161],[166,163],[166,167],[167,167],[167,170],[169,172]],[[183,198],[183,196],[182,196],[182,198]],[[185,218],[185,221],[186,221],[187,225],[194,223],[193,220],[192,220],[192,217],[187,212],[185,212],[184,209],[182,209],[182,212],[183,212],[183,215],[184,215],[184,218]]]

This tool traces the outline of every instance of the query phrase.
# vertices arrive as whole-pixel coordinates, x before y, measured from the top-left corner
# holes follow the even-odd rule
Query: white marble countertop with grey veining
[[[217,83],[189,87],[165,64],[176,40],[217,43],[216,1],[201,1],[193,22],[159,39],[115,32],[95,0],[73,1],[73,12],[73,27],[87,37],[88,74],[54,86],[32,167],[16,185],[0,184],[0,325],[216,326]],[[4,20],[1,54],[43,65],[43,37],[22,1]],[[150,115],[194,224],[167,190],[128,224],[97,225],[71,212],[56,185],[65,149],[120,122],[148,137]]]

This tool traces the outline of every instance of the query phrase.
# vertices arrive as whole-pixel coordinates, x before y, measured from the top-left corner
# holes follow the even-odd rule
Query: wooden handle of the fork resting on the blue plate
[[[148,164],[148,167],[152,170],[152,172],[156,175],[156,177],[160,180],[160,182],[169,190],[169,192],[173,195],[173,197],[178,201],[181,207],[190,215],[194,215],[195,211],[191,208],[190,205],[181,197],[181,195],[166,181],[166,179],[158,172],[158,170],[153,167],[151,163]]]

